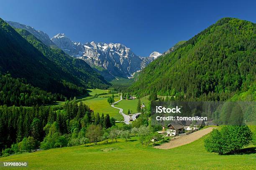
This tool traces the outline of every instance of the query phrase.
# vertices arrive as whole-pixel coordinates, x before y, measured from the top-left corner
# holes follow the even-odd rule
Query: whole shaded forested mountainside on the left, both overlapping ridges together
[[[33,86],[68,98],[86,94],[87,87],[108,87],[84,61],[46,47],[26,30],[18,31],[30,43],[0,19],[0,42],[5,42],[0,44],[0,73],[26,79]]]

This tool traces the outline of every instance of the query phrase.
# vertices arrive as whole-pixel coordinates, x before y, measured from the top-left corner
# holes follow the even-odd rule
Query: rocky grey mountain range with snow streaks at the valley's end
[[[140,57],[120,43],[77,43],[63,33],[51,40],[70,56],[82,58],[107,80],[131,77],[161,55],[153,52],[149,57]]]

